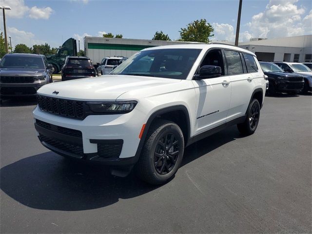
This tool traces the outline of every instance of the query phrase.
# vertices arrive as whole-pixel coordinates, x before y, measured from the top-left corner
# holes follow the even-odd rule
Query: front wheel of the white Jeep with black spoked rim
[[[136,174],[149,184],[166,183],[180,167],[183,153],[184,138],[179,126],[172,121],[156,120],[146,136]]]

